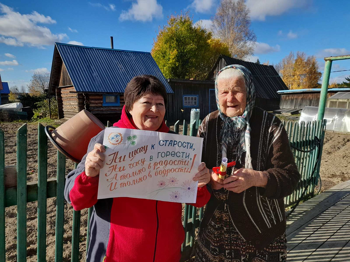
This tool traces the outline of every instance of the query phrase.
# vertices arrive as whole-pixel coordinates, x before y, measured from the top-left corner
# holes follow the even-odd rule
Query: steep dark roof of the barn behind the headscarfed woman
[[[282,78],[278,76],[277,71],[272,65],[262,65],[253,62],[247,62],[236,58],[220,55],[214,67],[209,73],[208,80],[215,79],[213,75],[219,61],[224,59],[226,65],[243,65],[249,69],[253,76],[256,96],[264,99],[279,99],[278,90],[288,90]],[[219,68],[221,69],[221,68]]]

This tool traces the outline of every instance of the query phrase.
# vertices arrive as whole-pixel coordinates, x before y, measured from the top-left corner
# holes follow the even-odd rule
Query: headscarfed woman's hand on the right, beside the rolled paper
[[[250,187],[266,187],[267,175],[261,171],[240,168],[224,180],[224,188],[240,193]]]

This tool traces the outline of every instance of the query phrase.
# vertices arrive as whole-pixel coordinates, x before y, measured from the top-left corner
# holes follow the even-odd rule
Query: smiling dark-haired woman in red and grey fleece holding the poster
[[[167,94],[157,78],[134,77],[125,88],[124,100],[121,119],[114,126],[170,133],[163,120]],[[93,206],[86,261],[179,262],[184,240],[181,203],[128,197],[97,199],[105,152],[103,136],[101,131],[91,139],[87,154],[69,173],[65,185],[65,198],[75,210]],[[201,207],[210,198],[205,163],[200,164],[193,180],[199,182],[194,206]]]

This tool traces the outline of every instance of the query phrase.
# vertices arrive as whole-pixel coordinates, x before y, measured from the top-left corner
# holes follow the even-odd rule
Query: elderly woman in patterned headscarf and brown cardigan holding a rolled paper
[[[241,65],[217,74],[218,111],[202,122],[202,161],[236,161],[222,180],[211,173],[212,196],[198,235],[196,261],[286,261],[283,197],[300,179],[280,120],[254,107],[252,75]]]

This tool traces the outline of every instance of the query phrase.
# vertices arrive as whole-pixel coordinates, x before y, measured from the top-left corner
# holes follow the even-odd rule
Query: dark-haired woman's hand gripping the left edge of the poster
[[[105,147],[101,144],[96,143],[93,150],[87,154],[85,160],[85,175],[94,177],[100,173],[100,169],[103,167],[103,161],[105,156]]]

